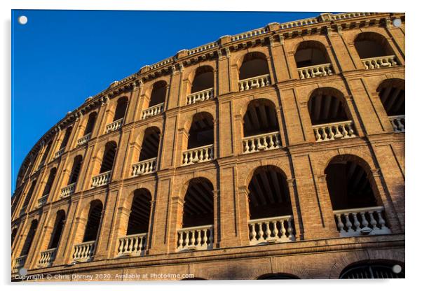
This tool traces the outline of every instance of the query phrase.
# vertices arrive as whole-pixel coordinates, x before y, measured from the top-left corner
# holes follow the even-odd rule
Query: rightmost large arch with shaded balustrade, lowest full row
[[[390,232],[368,169],[365,161],[350,155],[334,157],[325,168],[329,197],[342,236]]]

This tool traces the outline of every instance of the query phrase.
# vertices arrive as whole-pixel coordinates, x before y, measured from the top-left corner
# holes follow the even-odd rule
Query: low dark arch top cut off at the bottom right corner
[[[399,266],[399,267],[395,267]],[[405,278],[404,264],[390,261],[368,261],[351,264],[341,271],[340,279],[395,279]]]

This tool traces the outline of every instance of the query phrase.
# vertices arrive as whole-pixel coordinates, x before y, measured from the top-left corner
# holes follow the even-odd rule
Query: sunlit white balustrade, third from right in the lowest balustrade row
[[[177,231],[177,250],[210,250],[213,236],[212,225],[179,229]]]

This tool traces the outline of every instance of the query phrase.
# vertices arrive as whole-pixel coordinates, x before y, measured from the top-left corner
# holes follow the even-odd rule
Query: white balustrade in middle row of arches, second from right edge
[[[313,125],[313,133],[315,134],[315,140],[320,141],[334,141],[334,139],[349,139],[355,137],[353,131],[353,122],[342,121],[327,123],[325,125]]]

